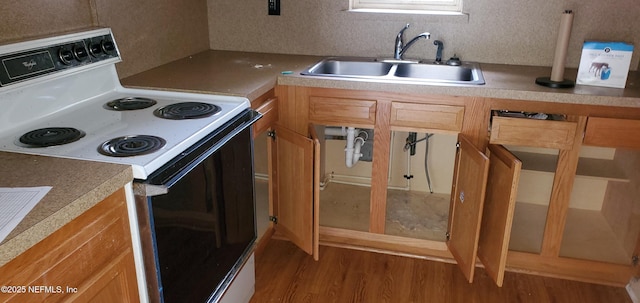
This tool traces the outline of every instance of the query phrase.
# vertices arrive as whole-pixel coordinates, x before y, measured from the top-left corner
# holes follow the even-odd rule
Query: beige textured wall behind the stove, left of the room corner
[[[206,0],[9,0],[0,5],[0,43],[90,26],[112,28],[123,78],[209,48]]]

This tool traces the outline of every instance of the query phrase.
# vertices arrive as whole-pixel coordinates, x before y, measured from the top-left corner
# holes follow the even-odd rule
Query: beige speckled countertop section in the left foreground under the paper
[[[132,180],[128,165],[0,152],[0,187],[52,187],[0,243],[0,266]]]

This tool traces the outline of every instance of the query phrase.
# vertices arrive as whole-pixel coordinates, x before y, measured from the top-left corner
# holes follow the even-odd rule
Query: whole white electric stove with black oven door
[[[0,45],[0,151],[131,165],[142,302],[238,292],[236,277],[253,281],[260,114],[242,97],[122,87],[120,61],[108,28]]]

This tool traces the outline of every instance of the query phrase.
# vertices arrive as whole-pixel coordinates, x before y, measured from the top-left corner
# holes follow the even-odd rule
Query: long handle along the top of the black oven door
[[[176,157],[151,174],[138,186],[145,196],[157,196],[168,193],[169,189],[202,161],[215,153],[240,132],[251,127],[262,117],[259,112],[247,109],[234,119],[213,131],[207,137],[189,147],[181,156]],[[252,131],[252,130],[250,130]],[[213,142],[213,143],[211,143]],[[195,154],[195,155],[194,155]]]

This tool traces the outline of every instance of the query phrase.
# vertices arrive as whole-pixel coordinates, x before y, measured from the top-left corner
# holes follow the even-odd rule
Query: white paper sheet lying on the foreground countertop
[[[51,190],[51,186],[0,187],[0,242]]]

